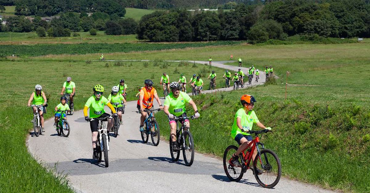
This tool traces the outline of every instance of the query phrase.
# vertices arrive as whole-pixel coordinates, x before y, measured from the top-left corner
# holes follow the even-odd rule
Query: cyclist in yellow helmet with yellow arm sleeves
[[[109,132],[113,126],[113,120],[108,118],[110,114],[105,113],[104,106],[107,105],[113,112],[112,117],[117,117],[117,113],[114,110],[112,104],[108,101],[107,98],[103,96],[104,87],[101,85],[95,85],[92,87],[93,96],[91,96],[85,103],[84,107],[84,116],[86,121],[90,121],[92,118],[105,118],[104,121],[107,121],[107,132],[108,132],[108,141],[109,141]],[[87,116],[87,109],[90,108],[89,116]],[[92,140],[92,159],[99,158],[99,151],[96,147],[98,140],[98,124],[99,120],[95,119],[90,121],[91,129],[91,140]]]

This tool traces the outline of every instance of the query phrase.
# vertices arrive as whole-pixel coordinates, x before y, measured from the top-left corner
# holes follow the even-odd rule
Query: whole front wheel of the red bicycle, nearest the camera
[[[279,157],[270,149],[263,149],[260,156],[253,161],[253,169],[257,182],[265,188],[277,185],[281,177],[281,163]],[[264,172],[258,175],[257,169]]]

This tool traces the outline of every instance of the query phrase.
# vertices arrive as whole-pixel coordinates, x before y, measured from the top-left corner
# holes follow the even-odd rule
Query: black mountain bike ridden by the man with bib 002
[[[190,117],[174,117],[176,122],[180,121],[184,123],[186,119],[194,119],[195,116]],[[184,131],[184,129],[186,129]],[[180,150],[182,150],[182,156],[184,156],[184,161],[186,166],[191,166],[194,161],[194,139],[193,135],[191,134],[189,127],[185,127],[184,124],[181,125],[179,129],[179,124],[177,124],[176,129],[176,145],[179,147],[178,151],[172,150],[172,137],[170,137],[169,142],[169,151],[171,152],[172,161],[177,162],[180,157]]]

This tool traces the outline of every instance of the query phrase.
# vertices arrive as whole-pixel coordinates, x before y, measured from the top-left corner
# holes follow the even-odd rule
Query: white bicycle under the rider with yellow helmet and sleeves
[[[99,120],[98,123],[98,140],[97,140],[97,148],[99,151],[99,158],[98,162],[102,159],[102,152],[104,152],[104,162],[105,162],[105,168],[108,168],[109,166],[109,159],[108,159],[108,151],[109,151],[109,140],[108,140],[108,130],[105,126],[105,123],[103,120],[106,118],[113,118],[112,116],[104,117],[104,118],[91,118],[90,121],[94,121],[95,119]]]

